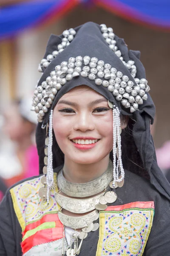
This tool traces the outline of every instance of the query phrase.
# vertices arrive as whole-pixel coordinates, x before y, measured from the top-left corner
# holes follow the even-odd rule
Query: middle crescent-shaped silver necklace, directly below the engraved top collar
[[[100,195],[96,195],[92,198],[68,198],[59,193],[55,194],[55,199],[60,207],[74,213],[91,212],[95,209],[95,205],[99,203],[99,198],[103,196],[105,192]]]

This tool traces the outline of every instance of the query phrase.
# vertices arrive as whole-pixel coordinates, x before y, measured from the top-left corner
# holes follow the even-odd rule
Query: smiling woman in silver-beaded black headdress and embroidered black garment
[[[169,255],[170,185],[139,52],[89,22],[51,35],[38,70],[40,176],[0,205],[0,254]]]

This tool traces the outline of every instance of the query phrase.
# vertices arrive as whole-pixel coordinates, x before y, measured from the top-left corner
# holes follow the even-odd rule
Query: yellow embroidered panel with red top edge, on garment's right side
[[[96,256],[142,256],[153,214],[153,202],[111,206],[100,212]]]

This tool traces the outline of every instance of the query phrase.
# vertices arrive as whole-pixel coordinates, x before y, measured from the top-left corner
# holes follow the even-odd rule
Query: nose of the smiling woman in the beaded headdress
[[[77,115],[77,120],[74,125],[74,130],[92,131],[94,130],[94,122],[89,113],[81,113]]]

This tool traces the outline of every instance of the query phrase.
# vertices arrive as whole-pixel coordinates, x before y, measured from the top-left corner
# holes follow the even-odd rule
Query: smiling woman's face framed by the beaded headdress
[[[96,163],[113,147],[112,109],[87,86],[75,87],[59,99],[53,128],[65,157],[75,163]]]

